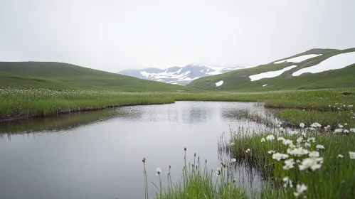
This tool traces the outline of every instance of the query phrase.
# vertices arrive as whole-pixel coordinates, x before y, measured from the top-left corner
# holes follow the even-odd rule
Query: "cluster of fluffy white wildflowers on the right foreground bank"
[[[341,129],[344,129],[346,126],[347,124],[339,124],[339,128]],[[324,158],[321,154],[324,150],[326,150],[326,147],[322,144],[317,144],[316,139],[317,134],[322,129],[322,125],[314,122],[309,125],[309,127],[306,127],[304,123],[301,123],[300,127],[300,130],[290,130],[285,132],[285,135],[290,135],[290,139],[285,139],[284,136],[274,136],[272,134],[268,134],[266,138],[261,139],[261,142],[265,144],[267,144],[267,141],[270,142],[270,144],[266,145],[270,146],[271,149],[267,151],[267,153],[270,154],[272,160],[283,163],[283,170],[291,171],[292,169],[297,169],[300,172],[312,173],[321,169],[324,162]],[[280,128],[282,127],[277,126],[277,129],[280,130]],[[326,129],[330,129],[330,127],[327,126]],[[354,129],[349,129],[349,132],[350,131],[353,132]],[[284,149],[285,151],[272,150],[272,146],[275,146],[272,143],[279,144],[282,147],[278,149]],[[248,150],[246,152],[248,152]],[[351,159],[355,159],[355,152],[349,151],[349,157]],[[337,158],[344,158],[344,156],[339,154]],[[282,181],[284,188],[295,187],[293,194],[296,197],[305,197],[307,185],[292,181],[289,176],[285,176]]]

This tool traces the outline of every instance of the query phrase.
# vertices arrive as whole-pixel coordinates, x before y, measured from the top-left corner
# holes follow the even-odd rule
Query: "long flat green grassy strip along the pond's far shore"
[[[139,104],[166,104],[175,101],[265,102],[274,109],[301,109],[334,113],[339,104],[349,113],[355,104],[355,89],[283,92],[112,92],[92,90],[16,89],[0,90],[0,119],[50,116],[66,112],[104,109]],[[329,105],[331,107],[329,107]],[[280,114],[281,115],[281,114]],[[283,113],[295,122],[295,114]],[[313,120],[314,121],[314,120]]]

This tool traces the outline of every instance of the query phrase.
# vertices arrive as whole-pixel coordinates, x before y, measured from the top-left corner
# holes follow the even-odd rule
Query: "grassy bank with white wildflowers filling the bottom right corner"
[[[225,150],[263,176],[260,198],[292,198],[297,193],[307,198],[354,198],[354,141],[355,132],[334,134],[318,128],[261,134],[237,131],[233,146],[226,144]],[[297,185],[307,190],[297,191]]]

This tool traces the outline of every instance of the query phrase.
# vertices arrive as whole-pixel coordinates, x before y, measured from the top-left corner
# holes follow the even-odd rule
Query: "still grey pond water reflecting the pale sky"
[[[223,132],[228,139],[230,127],[260,125],[238,117],[250,111],[263,107],[176,102],[0,123],[0,198],[144,198],[144,157],[154,196],[156,168],[165,178],[171,166],[177,180],[184,147],[187,161],[196,153],[216,168]],[[245,185],[260,182],[258,176],[239,175]]]

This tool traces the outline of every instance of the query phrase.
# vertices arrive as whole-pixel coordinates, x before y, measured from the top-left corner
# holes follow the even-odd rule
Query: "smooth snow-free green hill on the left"
[[[176,92],[189,88],[67,63],[0,62],[0,87]]]

